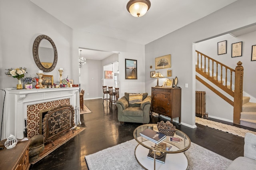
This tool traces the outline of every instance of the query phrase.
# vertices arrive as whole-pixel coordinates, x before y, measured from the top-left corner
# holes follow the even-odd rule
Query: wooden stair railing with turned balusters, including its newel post
[[[197,75],[196,79],[234,107],[233,123],[240,125],[240,113],[242,112],[243,104],[244,75],[242,62],[239,61],[236,68],[232,69],[197,50],[196,52],[198,63],[198,65],[196,65],[196,72],[233,97],[234,100],[230,100]],[[234,83],[232,83],[233,81]]]

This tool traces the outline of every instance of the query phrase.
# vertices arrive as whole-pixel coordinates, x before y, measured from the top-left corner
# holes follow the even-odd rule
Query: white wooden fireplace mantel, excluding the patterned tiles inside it
[[[5,89],[6,99],[2,127],[2,139],[13,134],[16,138],[24,138],[27,106],[48,101],[70,99],[70,105],[76,108],[76,98],[79,97],[79,87],[47,88],[47,89]],[[79,105],[79,103],[78,103]],[[80,123],[80,113],[76,112],[74,122]],[[1,139],[1,140],[2,140]]]

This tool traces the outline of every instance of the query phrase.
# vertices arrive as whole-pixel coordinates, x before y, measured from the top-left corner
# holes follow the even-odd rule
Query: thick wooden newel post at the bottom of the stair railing
[[[244,67],[242,62],[238,61],[235,69],[235,92],[234,92],[234,116],[233,123],[240,125],[240,114],[243,104],[243,77]]]

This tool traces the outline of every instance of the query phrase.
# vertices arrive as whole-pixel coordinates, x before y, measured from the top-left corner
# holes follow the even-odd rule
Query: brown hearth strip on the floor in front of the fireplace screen
[[[72,139],[74,136],[85,130],[86,128],[80,127],[78,130],[69,130],[68,132],[64,132],[58,136],[57,139],[53,140],[54,146],[52,146],[52,143],[49,142],[44,145],[44,150],[42,153],[38,155],[38,159],[36,159],[34,162],[30,162],[31,164],[35,164],[48,154],[50,154],[52,151],[60,147],[62,144],[67,142],[68,140]]]

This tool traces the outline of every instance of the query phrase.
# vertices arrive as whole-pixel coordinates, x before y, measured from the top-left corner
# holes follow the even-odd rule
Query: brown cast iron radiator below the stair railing
[[[196,115],[208,115],[206,114],[206,94],[205,91],[196,91]]]

